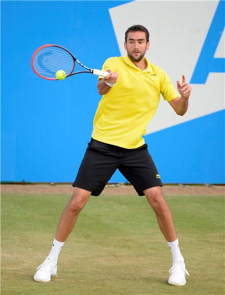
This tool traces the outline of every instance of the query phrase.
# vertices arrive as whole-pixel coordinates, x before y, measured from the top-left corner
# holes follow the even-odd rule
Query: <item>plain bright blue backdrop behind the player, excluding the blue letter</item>
[[[108,9],[124,3],[1,3],[2,181],[73,182],[101,98],[97,77],[44,80],[34,74],[31,57],[43,44],[60,44],[101,68],[107,57],[120,55]],[[224,111],[145,140],[164,183],[224,183]],[[117,171],[111,182],[125,179]]]

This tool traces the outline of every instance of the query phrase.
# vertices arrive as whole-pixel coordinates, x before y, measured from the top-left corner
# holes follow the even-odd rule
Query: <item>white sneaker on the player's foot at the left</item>
[[[57,262],[53,258],[47,257],[37,268],[34,280],[36,282],[49,282],[51,275],[57,276]]]

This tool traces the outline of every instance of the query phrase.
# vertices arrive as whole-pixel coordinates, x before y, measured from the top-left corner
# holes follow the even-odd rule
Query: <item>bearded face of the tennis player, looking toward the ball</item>
[[[124,47],[130,60],[139,62],[145,56],[146,50],[149,49],[149,42],[146,40],[145,32],[129,32]]]

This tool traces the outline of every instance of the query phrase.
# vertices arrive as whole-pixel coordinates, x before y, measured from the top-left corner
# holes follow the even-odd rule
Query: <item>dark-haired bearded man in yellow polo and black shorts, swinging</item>
[[[56,275],[60,250],[79,212],[90,195],[102,192],[118,168],[138,195],[146,196],[155,211],[173,257],[168,283],[186,283],[188,272],[179,249],[173,216],[142,136],[158,107],[160,94],[177,114],[184,115],[191,87],[183,76],[182,83],[177,81],[179,96],[166,73],[145,57],[149,45],[148,30],[142,25],[131,26],[125,33],[127,56],[108,58],[103,65],[103,70],[109,74],[99,77],[97,84],[103,97],[95,114],[92,140],[73,183],[74,192],[61,216],[51,251],[34,276],[38,282],[50,281],[51,275]]]

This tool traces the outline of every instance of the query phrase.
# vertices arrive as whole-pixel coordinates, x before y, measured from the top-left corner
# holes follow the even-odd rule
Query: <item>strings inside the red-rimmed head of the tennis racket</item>
[[[58,70],[63,70],[68,75],[73,71],[75,61],[66,50],[48,46],[39,50],[34,58],[36,71],[47,78],[55,78]]]

